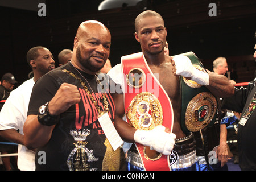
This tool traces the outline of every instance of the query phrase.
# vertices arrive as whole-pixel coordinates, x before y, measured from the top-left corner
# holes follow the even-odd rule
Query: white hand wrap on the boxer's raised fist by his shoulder
[[[172,59],[175,62],[176,74],[184,77],[191,77],[191,80],[200,85],[209,85],[208,73],[202,72],[193,67],[191,60],[187,56],[174,56]]]

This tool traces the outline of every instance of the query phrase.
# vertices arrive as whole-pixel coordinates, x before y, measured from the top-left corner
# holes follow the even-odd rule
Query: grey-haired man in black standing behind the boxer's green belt
[[[228,64],[225,57],[218,57],[213,61],[213,72],[219,75],[225,75],[226,71],[228,71]],[[226,162],[228,162],[228,146],[226,144],[227,129],[226,125],[220,124],[225,114],[226,111],[219,110],[216,122],[213,126],[206,127],[200,132],[194,133],[196,139],[196,154],[201,164],[201,170],[205,170],[207,167],[213,171],[228,170],[228,166],[226,165]],[[204,144],[202,144],[201,138],[203,138]],[[217,154],[219,163],[208,164],[209,159],[207,159],[207,155],[213,149]]]

